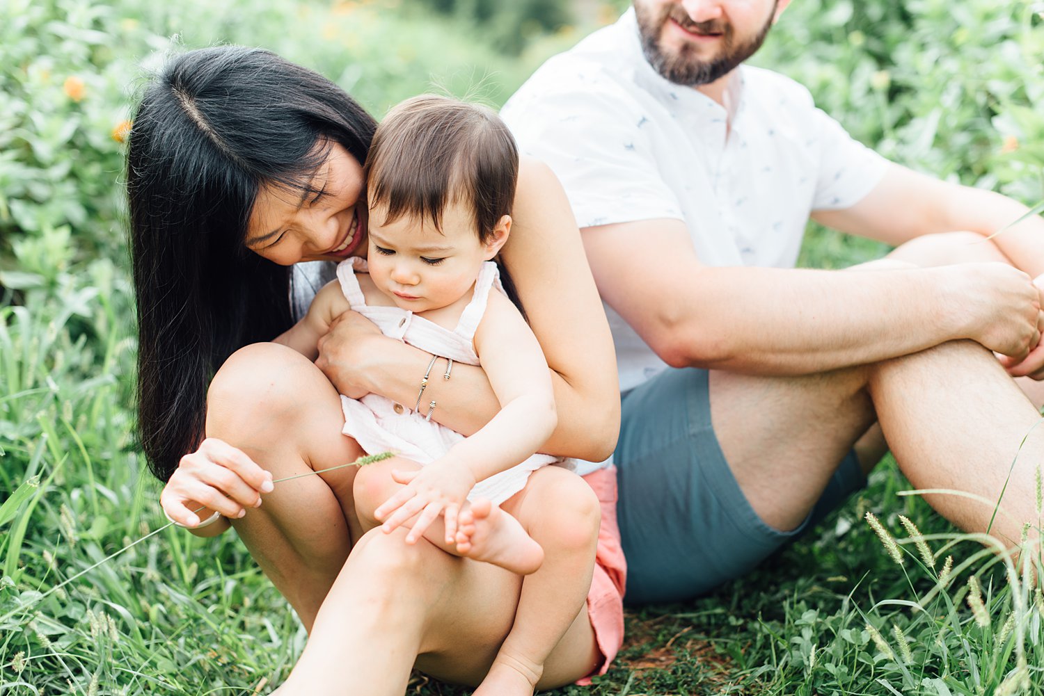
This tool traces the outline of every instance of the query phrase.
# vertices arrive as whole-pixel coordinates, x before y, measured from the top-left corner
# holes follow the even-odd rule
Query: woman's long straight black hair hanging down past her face
[[[138,428],[160,479],[203,438],[220,364],[291,323],[291,269],[243,244],[258,190],[306,190],[334,142],[362,164],[375,127],[335,83],[260,49],[187,51],[145,88],[127,195]]]

